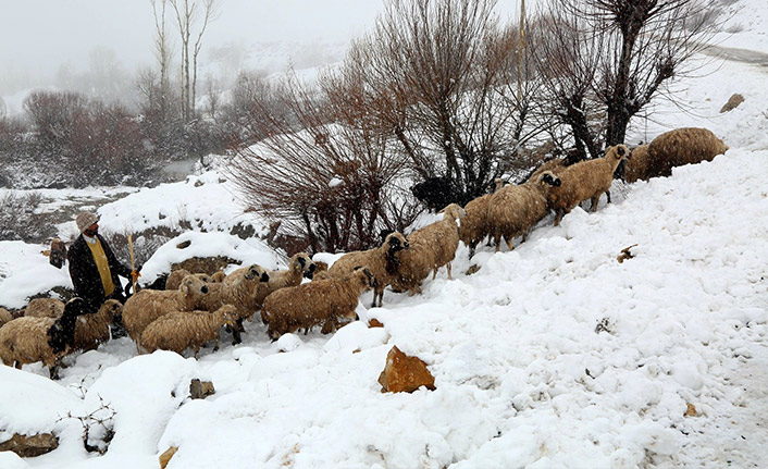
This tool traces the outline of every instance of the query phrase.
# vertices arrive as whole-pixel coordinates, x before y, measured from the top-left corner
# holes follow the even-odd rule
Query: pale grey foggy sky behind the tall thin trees
[[[244,69],[274,73],[338,61],[349,40],[371,28],[383,1],[220,0],[202,39],[199,76],[226,81]],[[511,12],[518,0],[499,3]],[[156,67],[150,0],[0,4],[0,98],[11,113],[40,87],[124,97],[140,70]]]

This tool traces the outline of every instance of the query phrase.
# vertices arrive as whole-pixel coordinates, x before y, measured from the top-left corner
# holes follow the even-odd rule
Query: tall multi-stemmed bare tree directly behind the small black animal
[[[393,0],[345,61],[413,170],[445,175],[462,203],[485,190],[527,138],[533,94],[515,96],[505,82],[515,79],[509,57],[521,42],[501,30],[494,5]]]

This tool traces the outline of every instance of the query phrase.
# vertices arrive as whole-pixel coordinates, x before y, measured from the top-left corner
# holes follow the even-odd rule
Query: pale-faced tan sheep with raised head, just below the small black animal
[[[398,254],[400,267],[397,279],[393,282],[396,291],[410,291],[411,296],[421,292],[421,282],[430,275],[437,275],[437,270],[446,266],[448,279],[451,277],[450,262],[456,257],[459,246],[459,219],[464,209],[451,203],[443,211],[443,220],[419,229],[406,239],[410,247]]]

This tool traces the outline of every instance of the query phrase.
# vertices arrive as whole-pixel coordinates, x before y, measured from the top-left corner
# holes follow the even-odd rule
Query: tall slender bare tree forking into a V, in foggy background
[[[197,58],[208,23],[219,15],[218,0],[169,0],[176,16],[182,41],[182,118],[189,121],[195,113]],[[190,70],[191,69],[191,70]]]

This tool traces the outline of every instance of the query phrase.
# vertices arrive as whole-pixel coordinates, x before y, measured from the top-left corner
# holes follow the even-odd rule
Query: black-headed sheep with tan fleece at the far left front
[[[66,303],[59,319],[22,317],[0,328],[0,360],[15,368],[42,361],[52,380],[59,379],[61,359],[75,338],[77,317],[85,313],[86,303],[75,297]]]

